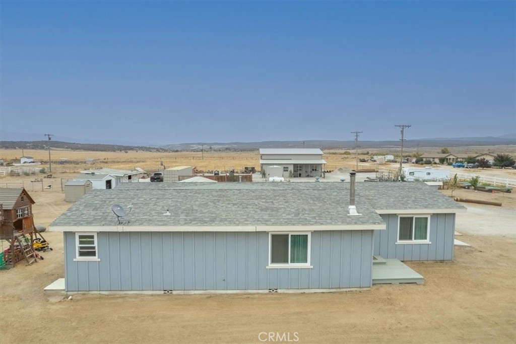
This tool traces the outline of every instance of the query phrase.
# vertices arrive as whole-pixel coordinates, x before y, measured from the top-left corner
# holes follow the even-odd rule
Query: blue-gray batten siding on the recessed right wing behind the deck
[[[455,237],[455,214],[432,214],[430,244],[396,244],[398,215],[380,215],[386,230],[375,231],[375,255],[399,260],[452,260]]]

